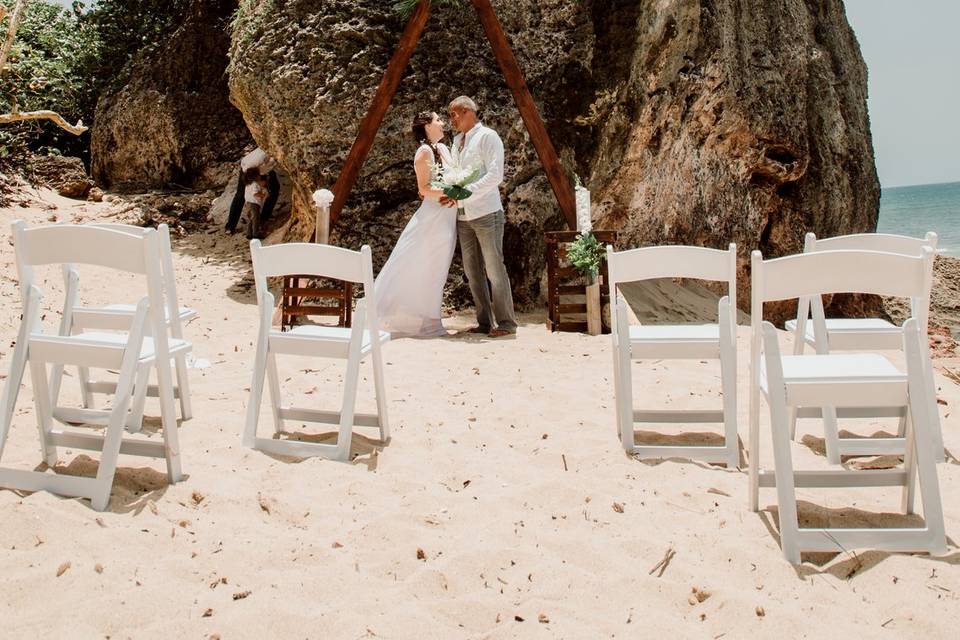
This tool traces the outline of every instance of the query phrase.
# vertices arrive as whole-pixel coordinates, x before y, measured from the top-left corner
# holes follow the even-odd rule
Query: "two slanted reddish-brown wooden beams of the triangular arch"
[[[560,160],[557,158],[557,152],[553,147],[553,143],[550,141],[550,135],[547,133],[547,129],[543,124],[543,119],[540,117],[540,112],[537,110],[536,104],[533,102],[533,97],[530,95],[530,90],[527,88],[527,83],[523,78],[523,72],[517,64],[517,59],[513,55],[510,43],[507,42],[507,37],[503,33],[503,27],[500,26],[500,21],[497,19],[496,11],[494,11],[493,6],[490,4],[490,0],[471,0],[471,2],[477,10],[477,16],[479,16],[483,30],[487,34],[487,40],[493,48],[494,56],[500,65],[503,77],[513,94],[513,99],[517,104],[527,131],[530,133],[530,140],[537,150],[540,163],[543,165],[547,179],[550,181],[550,186],[553,188],[553,193],[557,198],[557,203],[560,205],[560,210],[563,212],[570,228],[576,229],[576,201],[574,199],[573,189],[570,186],[570,180],[560,166]],[[390,60],[390,64],[383,74],[383,79],[380,81],[380,86],[377,87],[377,93],[373,97],[370,109],[360,123],[360,132],[357,134],[357,139],[354,141],[353,147],[350,149],[350,153],[343,164],[343,169],[340,171],[340,177],[337,178],[337,182],[333,187],[334,200],[330,207],[328,228],[324,230],[317,229],[318,240],[321,238],[326,239],[329,234],[329,229],[333,227],[340,212],[343,211],[343,207],[346,204],[350,192],[353,190],[357,176],[360,174],[360,167],[363,166],[364,161],[367,159],[367,154],[373,146],[373,140],[377,135],[377,131],[379,131],[387,109],[390,107],[390,103],[397,93],[397,88],[400,86],[403,72],[410,62],[417,43],[420,41],[424,27],[426,27],[427,18],[430,16],[430,5],[430,0],[420,0],[416,9],[410,15],[406,29],[404,29],[403,35],[400,38],[400,45],[394,52],[393,58]]]

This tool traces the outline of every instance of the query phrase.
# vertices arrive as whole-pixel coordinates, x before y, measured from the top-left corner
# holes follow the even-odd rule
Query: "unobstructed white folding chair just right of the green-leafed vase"
[[[727,251],[702,247],[647,247],[614,252],[607,247],[611,317],[614,319],[613,370],[617,425],[624,449],[642,458],[678,456],[739,464],[737,441],[737,247]],[[626,300],[617,285],[654,278],[695,278],[727,283],[727,295],[717,304],[717,324],[630,326]],[[654,410],[633,408],[632,360],[718,359],[723,388],[722,411]],[[723,446],[639,445],[634,424],[720,423],[724,425]]]

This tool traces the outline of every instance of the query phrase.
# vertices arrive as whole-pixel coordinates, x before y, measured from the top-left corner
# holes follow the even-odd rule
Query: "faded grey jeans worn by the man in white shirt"
[[[457,236],[463,254],[463,271],[477,306],[477,323],[486,330],[497,327],[516,332],[513,292],[503,264],[503,223],[503,210],[482,218],[458,220]],[[487,279],[490,280],[489,286]]]

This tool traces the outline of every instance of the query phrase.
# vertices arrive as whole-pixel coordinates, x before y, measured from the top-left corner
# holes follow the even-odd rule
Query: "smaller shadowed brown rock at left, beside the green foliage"
[[[227,89],[236,0],[197,0],[128,83],[97,104],[91,170],[114,190],[222,186],[251,142]]]

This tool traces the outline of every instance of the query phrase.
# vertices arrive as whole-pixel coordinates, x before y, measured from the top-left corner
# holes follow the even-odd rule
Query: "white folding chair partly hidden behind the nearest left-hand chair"
[[[95,226],[102,229],[110,229],[121,233],[133,235],[143,235],[144,227],[138,227],[128,224],[109,224],[96,223],[88,226]],[[170,337],[174,340],[183,340],[183,323],[197,317],[197,312],[187,307],[180,307],[177,300],[177,283],[173,270],[173,252],[170,248],[170,230],[166,224],[157,226],[159,235],[160,253],[161,253],[161,273],[163,276],[163,294],[165,303],[165,314],[167,328]],[[133,304],[109,304],[102,307],[78,306],[80,289],[80,272],[76,265],[64,265],[63,267],[64,287],[66,297],[64,302],[63,316],[60,321],[60,335],[70,335],[84,330],[101,331],[129,331],[130,323],[136,312],[136,305]],[[190,384],[187,370],[187,352],[181,351],[174,356],[176,367],[176,384],[173,391],[174,396],[180,401],[180,417],[184,421],[189,420],[193,415],[190,402]],[[60,410],[58,398],[63,381],[63,366],[54,365],[50,376],[50,387],[54,405],[54,412]],[[127,430],[137,432],[143,424],[143,409],[147,396],[157,397],[159,389],[157,385],[149,384],[149,372],[144,374],[144,380],[138,380],[134,385],[133,409],[128,417]],[[93,381],[90,379],[89,371],[83,367],[78,371],[80,382],[80,392],[83,398],[85,408],[94,408],[94,394],[113,394],[116,392],[117,383],[115,381]]]

